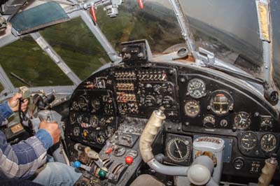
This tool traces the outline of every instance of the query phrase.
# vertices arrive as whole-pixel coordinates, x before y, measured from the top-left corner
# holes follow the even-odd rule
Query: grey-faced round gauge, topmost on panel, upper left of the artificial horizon
[[[206,87],[203,80],[200,79],[192,79],[188,83],[188,94],[195,99],[202,98],[206,95]]]

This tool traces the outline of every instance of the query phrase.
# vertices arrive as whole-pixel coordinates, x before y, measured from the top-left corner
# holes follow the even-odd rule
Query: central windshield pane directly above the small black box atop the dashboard
[[[168,0],[145,1],[141,10],[138,1],[127,0],[116,18],[109,18],[99,8],[97,24],[114,48],[125,41],[147,39],[153,53],[165,52],[172,45],[184,43],[181,29]]]

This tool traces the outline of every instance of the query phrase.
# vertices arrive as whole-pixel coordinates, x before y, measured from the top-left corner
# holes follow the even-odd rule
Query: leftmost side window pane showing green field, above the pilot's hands
[[[0,62],[15,87],[73,85],[31,36],[0,48]]]

